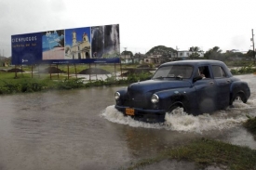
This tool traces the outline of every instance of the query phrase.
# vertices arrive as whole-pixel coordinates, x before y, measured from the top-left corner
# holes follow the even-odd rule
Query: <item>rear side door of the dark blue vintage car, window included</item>
[[[216,105],[224,109],[229,105],[231,80],[222,66],[212,65],[211,69],[216,84]]]

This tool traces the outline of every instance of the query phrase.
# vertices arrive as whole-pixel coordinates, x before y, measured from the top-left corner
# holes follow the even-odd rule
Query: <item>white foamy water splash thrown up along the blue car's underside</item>
[[[182,109],[175,112],[166,113],[166,122],[162,124],[148,124],[135,121],[129,116],[124,116],[120,111],[115,110],[115,106],[108,106],[102,111],[101,116],[110,122],[117,124],[128,124],[133,127],[166,129],[182,132],[203,133],[210,130],[222,130],[244,123],[247,115],[256,116],[256,99],[249,100],[248,103],[236,102],[234,108],[215,111],[211,114],[204,113],[198,116],[187,114]]]

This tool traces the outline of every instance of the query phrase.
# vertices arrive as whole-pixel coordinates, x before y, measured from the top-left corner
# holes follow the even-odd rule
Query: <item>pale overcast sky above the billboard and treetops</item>
[[[0,56],[11,35],[119,24],[120,50],[252,49],[256,0],[0,0]]]

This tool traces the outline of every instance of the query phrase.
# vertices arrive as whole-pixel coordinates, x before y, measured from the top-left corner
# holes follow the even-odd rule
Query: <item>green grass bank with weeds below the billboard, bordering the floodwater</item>
[[[105,66],[110,67],[110,66]],[[74,89],[87,88],[91,86],[103,85],[128,85],[130,83],[143,81],[151,76],[148,72],[130,74],[127,79],[117,80],[115,75],[107,77],[106,80],[87,81],[68,77],[67,73],[49,74],[49,73],[24,73],[24,72],[0,72],[0,95],[36,92],[52,89]]]

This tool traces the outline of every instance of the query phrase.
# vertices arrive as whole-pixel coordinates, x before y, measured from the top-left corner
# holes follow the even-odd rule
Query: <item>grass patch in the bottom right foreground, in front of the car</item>
[[[256,150],[201,138],[187,145],[162,151],[153,158],[142,159],[129,166],[128,170],[139,169],[145,165],[169,159],[194,162],[198,169],[206,168],[209,165],[233,170],[256,169]]]

